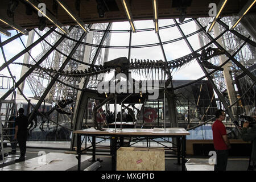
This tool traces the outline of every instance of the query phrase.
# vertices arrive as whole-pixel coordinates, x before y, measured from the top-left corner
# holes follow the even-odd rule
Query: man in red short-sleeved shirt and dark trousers
[[[226,127],[222,123],[225,119],[224,110],[219,109],[215,112],[216,121],[212,125],[213,144],[217,154],[217,163],[214,165],[214,171],[226,171],[228,164],[228,150],[231,148]]]

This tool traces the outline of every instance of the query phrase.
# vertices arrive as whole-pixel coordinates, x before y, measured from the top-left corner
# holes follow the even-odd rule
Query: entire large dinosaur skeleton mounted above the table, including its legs
[[[89,69],[85,69],[84,71],[57,71],[56,69],[52,68],[42,68],[40,65],[35,64],[23,64],[23,63],[14,63],[14,64],[20,64],[24,65],[28,68],[35,68],[36,71],[43,71],[46,72],[52,76],[55,76],[56,74],[59,75],[59,80],[63,81],[77,81],[80,82],[82,78],[84,77],[96,77],[95,80],[97,80],[98,75],[101,73],[109,73],[114,69],[114,77],[111,81],[114,80],[115,74],[118,73],[124,73],[126,76],[128,76],[129,71],[132,71],[134,73],[141,75],[151,75],[152,77],[155,75],[158,76],[158,79],[160,77],[159,70],[161,72],[161,79],[165,80],[164,82],[164,92],[167,93],[167,100],[168,97],[171,99],[171,102],[174,102],[174,90],[171,89],[168,90],[167,86],[172,81],[171,76],[171,69],[179,69],[183,65],[188,64],[194,59],[199,59],[199,63],[203,65],[206,68],[209,69],[217,69],[219,71],[223,71],[223,68],[217,67],[216,65],[213,65],[209,63],[207,60],[210,58],[224,54],[225,52],[218,48],[212,48],[208,47],[207,49],[203,49],[203,51],[200,53],[191,53],[187,56],[181,57],[176,60],[172,61],[163,61],[163,60],[137,60],[137,59],[131,59],[129,61],[126,57],[119,57],[117,59],[105,62],[104,65],[91,65]],[[153,71],[155,69],[155,71]],[[156,73],[156,69],[158,70]],[[155,74],[154,74],[155,73]],[[164,76],[163,76],[164,75]],[[167,79],[166,78],[167,75]],[[126,77],[128,78],[128,77]],[[92,79],[93,80],[93,79]],[[117,81],[121,81],[121,78]],[[114,93],[111,93],[104,101],[102,101],[99,105],[94,106],[93,108],[93,127],[97,130],[103,130],[100,125],[98,125],[96,121],[96,114],[98,109],[100,109],[103,105],[107,104],[109,101],[114,100],[116,98]],[[170,106],[169,106],[170,107]],[[175,108],[175,106],[174,106]]]

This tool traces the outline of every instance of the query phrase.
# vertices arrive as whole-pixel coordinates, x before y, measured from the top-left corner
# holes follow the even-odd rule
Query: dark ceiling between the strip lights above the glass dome
[[[80,0],[80,11],[76,10],[75,0],[63,0],[73,13],[77,14],[86,24],[89,23],[103,23],[103,22],[120,22],[126,21],[127,17],[123,9],[121,0]],[[14,18],[11,19],[7,16],[6,11],[8,9],[9,0],[1,0],[0,12],[1,16],[5,18],[14,20],[15,24],[19,24],[23,28],[37,28],[39,25],[39,18],[37,12],[33,9],[32,15],[26,14],[26,1],[20,0],[18,7],[14,11]],[[59,22],[64,25],[76,24],[71,17],[65,13],[60,6],[57,7],[57,11],[53,10],[54,0],[41,0],[38,2],[43,2],[46,4],[47,10],[49,10]],[[97,11],[97,2],[105,4],[105,16],[100,18]],[[184,2],[180,5],[180,2]],[[158,0],[158,11],[159,19],[167,18],[179,18],[180,9],[179,6],[185,6],[185,11],[187,13],[187,18],[199,18],[207,17],[209,3],[216,3],[220,0]],[[221,16],[236,15],[245,5],[247,1],[245,0],[229,0],[226,4]],[[131,7],[131,14],[134,20],[146,20],[153,19],[153,8],[151,0],[127,0]],[[181,7],[182,8],[182,7]],[[254,6],[251,12],[256,12],[256,7]],[[47,27],[53,26],[51,22],[47,20]],[[0,27],[10,29],[6,24],[0,22]]]

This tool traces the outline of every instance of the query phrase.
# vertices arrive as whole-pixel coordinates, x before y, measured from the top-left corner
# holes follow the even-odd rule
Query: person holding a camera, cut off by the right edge
[[[249,128],[249,122],[244,122],[241,129],[241,137],[245,142],[251,141],[251,161],[253,162],[253,168],[255,170],[256,164],[256,124]]]

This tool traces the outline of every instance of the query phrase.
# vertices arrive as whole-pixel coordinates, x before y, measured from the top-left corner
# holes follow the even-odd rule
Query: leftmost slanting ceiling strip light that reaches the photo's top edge
[[[69,34],[69,31],[67,30],[67,28],[64,27],[63,24],[61,24],[60,22],[57,21],[57,19],[55,17],[53,17],[50,13],[44,13],[43,11],[41,11],[38,6],[36,6],[36,3],[38,3],[38,1],[36,0],[26,0],[28,3],[30,3],[30,5],[32,7],[34,7],[34,9],[36,9],[39,13],[41,13],[44,17],[46,17],[50,22],[52,22],[53,24],[55,24],[58,28],[60,28],[61,31],[64,32],[64,34]],[[63,27],[63,28],[61,28]]]

